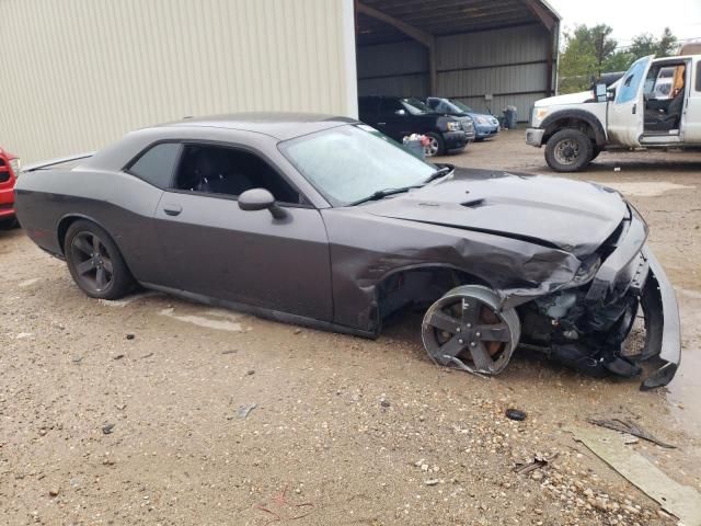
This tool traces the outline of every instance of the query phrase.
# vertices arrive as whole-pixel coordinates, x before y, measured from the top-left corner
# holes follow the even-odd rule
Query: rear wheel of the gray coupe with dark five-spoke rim
[[[119,249],[94,222],[73,222],[66,232],[64,252],[73,281],[91,298],[119,299],[134,288]]]

